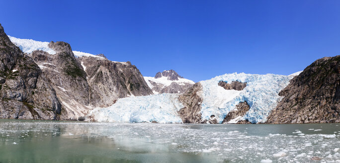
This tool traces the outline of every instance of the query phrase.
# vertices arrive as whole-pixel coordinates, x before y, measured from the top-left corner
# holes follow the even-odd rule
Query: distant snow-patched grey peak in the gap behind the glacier
[[[144,77],[154,94],[183,93],[195,82],[184,79],[173,70],[158,72],[155,77]]]

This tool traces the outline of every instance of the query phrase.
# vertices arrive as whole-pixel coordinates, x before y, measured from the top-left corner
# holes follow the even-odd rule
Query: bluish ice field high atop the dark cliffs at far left
[[[10,41],[19,47],[22,52],[31,54],[35,50],[42,50],[49,54],[56,54],[56,52],[48,47],[49,42],[34,41],[31,39],[19,39],[12,36],[8,36]]]

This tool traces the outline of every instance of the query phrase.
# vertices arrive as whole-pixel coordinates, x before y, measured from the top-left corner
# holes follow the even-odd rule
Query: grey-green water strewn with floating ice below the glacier
[[[0,120],[0,163],[340,163],[339,148],[340,124]]]

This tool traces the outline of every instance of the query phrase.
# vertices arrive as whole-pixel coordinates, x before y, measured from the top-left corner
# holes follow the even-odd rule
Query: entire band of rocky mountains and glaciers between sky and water
[[[173,70],[143,77],[130,62],[65,42],[8,37],[0,25],[0,118],[339,123],[339,101],[340,56],[290,76],[233,73],[194,83]]]

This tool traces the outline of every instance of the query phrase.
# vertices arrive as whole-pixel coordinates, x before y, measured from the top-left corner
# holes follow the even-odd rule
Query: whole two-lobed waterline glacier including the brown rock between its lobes
[[[183,94],[121,98],[112,106],[99,108],[88,116],[91,120],[110,122],[164,122],[167,119],[167,123],[178,123],[179,118],[183,123],[263,123],[282,98],[278,93],[292,78],[273,74],[225,74],[199,81]],[[132,101],[136,102],[131,104]],[[249,105],[248,110],[245,105]],[[236,108],[240,111],[229,115],[236,118],[225,120]],[[136,118],[139,116],[145,118]],[[170,121],[173,119],[175,121]]]

